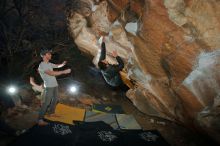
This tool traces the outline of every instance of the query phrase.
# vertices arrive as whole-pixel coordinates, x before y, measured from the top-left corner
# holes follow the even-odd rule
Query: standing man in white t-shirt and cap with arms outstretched
[[[40,126],[47,125],[48,123],[43,120],[46,112],[50,116],[54,116],[57,100],[58,100],[58,83],[56,80],[56,76],[62,74],[68,74],[71,72],[71,69],[66,69],[62,71],[53,71],[53,68],[61,68],[66,64],[64,61],[62,64],[53,64],[49,61],[51,60],[52,54],[49,49],[41,50],[41,57],[43,61],[40,63],[38,67],[38,71],[40,73],[41,78],[44,81],[44,93],[43,93],[43,104],[39,112],[38,124]]]

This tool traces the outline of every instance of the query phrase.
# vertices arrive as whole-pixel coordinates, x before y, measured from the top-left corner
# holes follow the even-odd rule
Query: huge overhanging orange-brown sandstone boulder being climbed
[[[215,107],[207,114],[216,120],[220,1],[69,1],[79,3],[67,13],[75,43],[96,64],[100,36],[106,36],[107,59],[114,63],[117,50],[136,82],[127,96],[139,110],[186,125],[197,121],[206,130],[210,123],[200,113]],[[206,131],[216,134],[215,128]]]

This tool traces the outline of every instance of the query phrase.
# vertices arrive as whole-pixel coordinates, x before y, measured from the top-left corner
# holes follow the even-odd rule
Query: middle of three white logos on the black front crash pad
[[[117,138],[117,136],[114,135],[111,131],[99,131],[97,134],[99,138],[105,142],[112,142]]]

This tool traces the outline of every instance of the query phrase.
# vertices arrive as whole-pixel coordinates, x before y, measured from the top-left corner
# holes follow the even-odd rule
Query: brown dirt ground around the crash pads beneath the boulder
[[[131,114],[135,117],[140,126],[145,130],[157,129],[160,131],[166,141],[172,146],[207,146],[214,145],[207,137],[190,131],[181,125],[158,117],[151,117],[141,113],[132,102],[125,96],[123,91],[113,91],[108,88],[105,83],[100,80],[100,86],[86,87],[84,83],[77,82],[81,87],[75,95],[71,95],[66,91],[71,80],[59,81],[60,83],[60,103],[91,110],[93,103],[111,103],[120,104],[126,114]],[[97,83],[99,83],[97,82]],[[89,84],[87,84],[89,85]],[[84,86],[84,89],[83,89]],[[100,93],[100,88],[101,93]],[[39,95],[38,95],[39,97]],[[38,110],[40,108],[40,100],[34,96],[32,102],[27,106],[20,106],[9,109],[3,112],[3,118],[6,123],[16,130],[24,130],[36,124]],[[0,134],[0,145],[4,146],[14,140],[16,137]]]

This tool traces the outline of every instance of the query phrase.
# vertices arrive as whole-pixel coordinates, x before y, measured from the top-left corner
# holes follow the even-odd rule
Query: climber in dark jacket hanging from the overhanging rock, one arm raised
[[[106,60],[106,47],[103,37],[103,41],[101,44],[101,55],[99,58],[98,66],[106,83],[112,88],[120,88],[120,86],[124,86],[120,76],[120,71],[122,71],[122,69],[124,68],[124,63],[121,57],[117,55],[116,51],[112,52],[112,56],[116,58],[118,64],[109,64]]]

